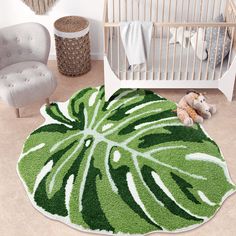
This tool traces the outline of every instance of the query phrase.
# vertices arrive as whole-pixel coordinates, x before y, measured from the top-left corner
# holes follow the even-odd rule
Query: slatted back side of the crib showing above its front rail
[[[202,22],[224,13],[232,0],[107,0],[108,22]]]

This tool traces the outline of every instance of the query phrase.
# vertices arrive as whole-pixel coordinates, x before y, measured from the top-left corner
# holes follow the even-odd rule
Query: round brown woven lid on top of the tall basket
[[[74,33],[89,27],[89,22],[80,16],[65,16],[54,23],[55,29],[61,32]]]

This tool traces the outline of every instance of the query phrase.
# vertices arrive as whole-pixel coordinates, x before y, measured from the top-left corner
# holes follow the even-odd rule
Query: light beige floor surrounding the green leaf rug
[[[78,78],[67,78],[60,75],[54,61],[49,62],[49,67],[58,79],[58,88],[51,97],[54,101],[66,101],[78,89],[103,84],[101,61],[93,61],[92,71]],[[178,101],[185,91],[162,90],[158,92],[168,99]],[[208,98],[210,102],[217,104],[218,113],[205,122],[204,127],[221,147],[232,179],[236,183],[236,101],[227,102],[218,91],[209,91]],[[17,176],[16,163],[24,140],[43,122],[43,118],[39,114],[42,104],[43,101],[21,109],[23,118],[16,119],[12,108],[7,107],[0,100],[0,235],[88,236],[90,234],[52,221],[35,210]],[[227,199],[211,221],[181,235],[236,235],[236,194]]]

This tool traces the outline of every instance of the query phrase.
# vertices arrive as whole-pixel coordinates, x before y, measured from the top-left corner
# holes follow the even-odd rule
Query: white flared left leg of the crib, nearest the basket
[[[108,101],[120,89],[120,79],[112,71],[106,56],[104,57],[104,83],[105,100]]]

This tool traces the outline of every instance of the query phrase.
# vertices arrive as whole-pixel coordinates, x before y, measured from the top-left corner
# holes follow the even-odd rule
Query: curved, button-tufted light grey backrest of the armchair
[[[38,23],[23,23],[0,29],[0,69],[24,61],[47,64],[48,30]]]

